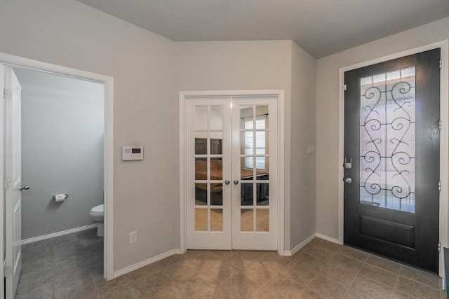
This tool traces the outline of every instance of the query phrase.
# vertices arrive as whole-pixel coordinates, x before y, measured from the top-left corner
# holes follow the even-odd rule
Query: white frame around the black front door
[[[433,50],[441,48],[441,73],[440,73],[440,118],[441,118],[441,134],[440,134],[440,180],[441,180],[441,192],[440,192],[440,242],[441,252],[439,260],[439,275],[444,277],[444,264],[443,264],[443,246],[448,247],[448,218],[449,218],[449,103],[448,103],[448,50],[449,41],[440,41],[437,43],[431,43],[427,46],[421,46],[411,50],[406,50],[401,53],[395,53],[374,60],[368,60],[358,64],[353,64],[349,67],[342,67],[340,69],[340,95],[339,95],[339,155],[338,155],[338,243],[343,244],[343,221],[344,221],[344,182],[343,182],[343,159],[344,159],[344,72],[358,69],[361,67],[367,67],[372,64],[385,62],[388,60],[394,60],[407,55],[413,55],[416,53],[424,52],[427,50]]]

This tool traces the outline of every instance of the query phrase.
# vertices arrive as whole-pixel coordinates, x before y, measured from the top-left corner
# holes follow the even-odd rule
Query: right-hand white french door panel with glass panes
[[[276,100],[241,98],[232,106],[232,247],[276,250]]]

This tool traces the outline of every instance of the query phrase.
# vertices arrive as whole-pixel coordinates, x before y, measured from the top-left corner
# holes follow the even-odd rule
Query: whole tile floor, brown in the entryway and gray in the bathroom
[[[51,249],[24,246],[16,298],[445,298],[436,275],[318,238],[291,257],[189,250],[112,281],[102,279],[92,235],[67,238],[49,241]]]

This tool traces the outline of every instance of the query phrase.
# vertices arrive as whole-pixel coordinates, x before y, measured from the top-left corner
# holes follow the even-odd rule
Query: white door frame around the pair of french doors
[[[186,104],[189,97],[250,97],[268,95],[277,98],[278,106],[278,253],[284,255],[284,92],[283,90],[203,90],[203,91],[182,91],[180,92],[180,253],[185,253],[187,250],[187,205],[186,205]]]

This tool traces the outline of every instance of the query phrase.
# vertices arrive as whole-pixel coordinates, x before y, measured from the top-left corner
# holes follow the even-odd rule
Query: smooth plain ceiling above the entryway
[[[449,0],[78,0],[173,41],[291,39],[316,58],[449,16]]]

